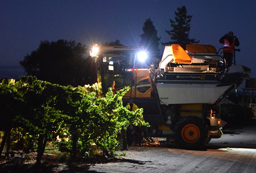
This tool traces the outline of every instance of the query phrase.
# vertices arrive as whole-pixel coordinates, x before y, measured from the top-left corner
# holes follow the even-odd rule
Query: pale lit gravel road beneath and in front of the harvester
[[[256,173],[256,126],[224,133],[202,150],[181,150],[175,144],[130,147],[126,156],[111,163],[90,165],[89,172]]]

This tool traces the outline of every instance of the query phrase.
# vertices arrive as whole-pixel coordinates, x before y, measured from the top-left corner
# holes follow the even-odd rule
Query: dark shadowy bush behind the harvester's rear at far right
[[[252,108],[240,104],[221,104],[221,119],[227,122],[227,127],[249,125],[253,117]]]

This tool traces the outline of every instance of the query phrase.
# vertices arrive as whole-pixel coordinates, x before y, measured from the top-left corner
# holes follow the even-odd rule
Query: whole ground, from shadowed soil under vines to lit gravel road
[[[226,130],[221,138],[212,139],[202,150],[181,150],[163,141],[160,145],[129,147],[125,156],[111,159],[85,158],[69,164],[45,157],[48,162],[42,164],[39,171],[42,173],[255,173],[256,125]],[[33,165],[0,161],[0,173],[29,173],[33,172]]]

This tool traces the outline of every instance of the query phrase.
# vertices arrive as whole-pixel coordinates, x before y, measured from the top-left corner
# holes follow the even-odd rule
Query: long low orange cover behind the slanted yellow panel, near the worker
[[[186,50],[192,53],[217,53],[214,46],[202,44],[187,44]]]

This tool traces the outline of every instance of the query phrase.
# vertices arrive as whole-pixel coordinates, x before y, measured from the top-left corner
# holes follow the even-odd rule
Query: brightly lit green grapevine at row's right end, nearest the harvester
[[[96,140],[94,142],[101,146],[104,152],[114,153],[119,144],[116,140],[119,131],[122,128],[126,129],[130,123],[148,125],[142,121],[142,109],[133,112],[129,111],[128,107],[122,106],[122,96],[128,90],[129,87],[125,87],[113,95],[113,92],[109,89],[105,98],[95,100],[94,104],[91,104],[87,109],[87,113],[91,115],[95,125],[94,135],[96,135]]]

